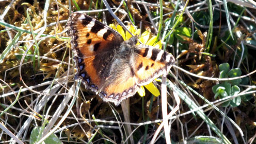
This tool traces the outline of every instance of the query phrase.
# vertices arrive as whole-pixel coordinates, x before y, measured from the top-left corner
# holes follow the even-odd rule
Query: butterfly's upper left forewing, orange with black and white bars
[[[123,42],[117,31],[86,14],[73,13],[67,28],[72,38],[72,49],[81,58],[112,50]]]

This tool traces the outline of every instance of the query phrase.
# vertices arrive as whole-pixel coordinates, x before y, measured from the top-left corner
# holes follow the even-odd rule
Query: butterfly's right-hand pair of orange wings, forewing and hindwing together
[[[138,45],[132,48],[135,53],[129,62],[119,62],[116,59],[118,62],[114,61],[111,65],[115,69],[103,86],[100,94],[103,100],[119,105],[123,99],[133,96],[139,86],[149,84],[161,75],[167,75],[175,62],[170,53],[152,46]]]

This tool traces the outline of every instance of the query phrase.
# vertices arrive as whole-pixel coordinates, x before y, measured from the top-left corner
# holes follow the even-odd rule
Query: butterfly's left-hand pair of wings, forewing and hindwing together
[[[108,63],[105,57],[113,55],[113,49],[120,47],[123,38],[114,29],[82,13],[72,13],[66,28],[78,69],[75,79],[83,79],[87,88],[98,92],[104,83],[99,72],[103,71],[102,64]]]

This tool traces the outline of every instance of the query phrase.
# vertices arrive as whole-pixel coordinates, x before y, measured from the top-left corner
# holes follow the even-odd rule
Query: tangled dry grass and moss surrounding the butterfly
[[[148,31],[149,39],[157,35],[177,58],[165,103],[168,113],[180,105],[168,120],[172,142],[255,143],[255,2],[107,3],[120,22]],[[152,140],[165,117],[161,96],[150,88],[136,94],[126,106],[127,121],[124,107],[74,82],[65,25],[80,10],[118,24],[103,1],[0,1],[0,143]],[[161,79],[154,84],[161,89]],[[164,129],[156,136],[155,143],[166,142]]]

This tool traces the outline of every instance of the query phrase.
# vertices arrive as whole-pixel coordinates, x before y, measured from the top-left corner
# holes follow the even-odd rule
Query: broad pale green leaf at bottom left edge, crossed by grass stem
[[[35,127],[30,135],[29,138],[29,143],[30,144],[34,144],[37,142],[37,138],[39,136],[39,131],[41,130],[41,127]],[[61,144],[62,142],[60,141],[60,139],[55,135],[55,134],[51,134],[49,137],[47,137],[44,140],[45,144]]]

